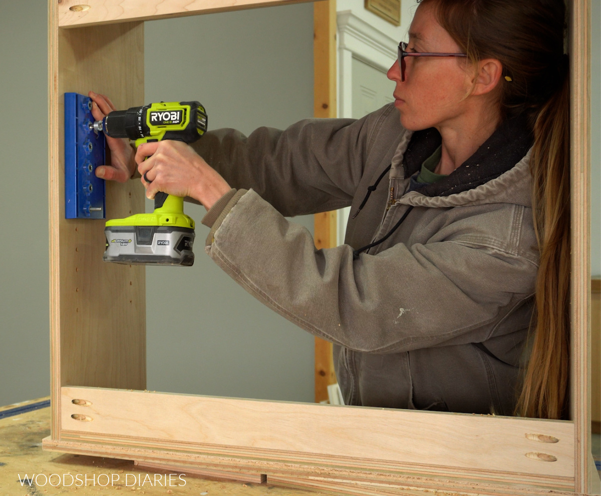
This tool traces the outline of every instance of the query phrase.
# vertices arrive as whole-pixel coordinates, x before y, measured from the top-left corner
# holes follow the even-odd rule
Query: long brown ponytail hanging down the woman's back
[[[567,417],[570,336],[570,85],[563,83],[534,122],[530,159],[532,212],[540,252],[532,348],[516,413]]]

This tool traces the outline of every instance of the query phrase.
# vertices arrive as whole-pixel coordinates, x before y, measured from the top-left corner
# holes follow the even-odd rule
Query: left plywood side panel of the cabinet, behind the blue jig
[[[144,267],[102,261],[103,220],[65,219],[63,131],[65,92],[106,94],[118,109],[144,103],[144,25],[58,29],[55,42],[55,79],[50,80],[52,373],[60,386],[144,389]],[[106,184],[107,219],[142,211],[139,181]]]

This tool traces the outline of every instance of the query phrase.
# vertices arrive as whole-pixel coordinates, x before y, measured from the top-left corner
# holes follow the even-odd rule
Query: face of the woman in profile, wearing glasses
[[[457,43],[439,25],[430,4],[420,4],[409,28],[407,52],[461,53]],[[468,59],[463,57],[405,57],[405,80],[398,62],[388,70],[396,83],[394,106],[401,124],[418,131],[453,126],[468,111],[466,94],[472,87]]]

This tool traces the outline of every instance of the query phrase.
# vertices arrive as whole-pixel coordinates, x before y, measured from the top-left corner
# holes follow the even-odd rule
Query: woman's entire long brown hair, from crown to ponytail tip
[[[516,414],[567,415],[570,304],[569,64],[564,0],[418,0],[472,62],[493,58],[502,118],[534,133],[532,213],[540,253],[528,366]]]

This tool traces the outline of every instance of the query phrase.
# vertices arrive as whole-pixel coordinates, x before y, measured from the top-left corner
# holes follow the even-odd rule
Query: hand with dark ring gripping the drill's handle
[[[148,159],[144,160],[146,157]],[[160,191],[190,196],[209,210],[231,189],[215,169],[181,141],[143,143],[136,151],[135,160],[146,196],[150,199]]]

